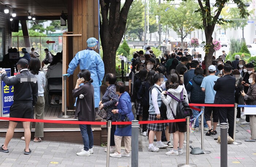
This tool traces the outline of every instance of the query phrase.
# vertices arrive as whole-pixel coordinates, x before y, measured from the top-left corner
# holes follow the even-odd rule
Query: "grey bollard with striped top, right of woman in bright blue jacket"
[[[138,136],[139,121],[132,120],[132,167],[139,166],[139,136]]]

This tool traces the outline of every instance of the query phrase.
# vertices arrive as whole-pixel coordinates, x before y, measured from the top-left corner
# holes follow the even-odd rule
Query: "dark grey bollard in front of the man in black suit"
[[[227,167],[227,123],[221,123],[221,167]]]

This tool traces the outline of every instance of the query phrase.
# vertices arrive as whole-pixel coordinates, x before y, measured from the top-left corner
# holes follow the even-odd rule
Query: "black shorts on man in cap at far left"
[[[10,118],[33,118],[33,114],[34,108],[32,103],[12,104],[10,108]]]

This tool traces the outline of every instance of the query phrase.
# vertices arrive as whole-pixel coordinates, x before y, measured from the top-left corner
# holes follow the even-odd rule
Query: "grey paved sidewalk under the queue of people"
[[[244,120],[242,120],[243,122]],[[228,145],[228,166],[230,167],[255,167],[256,165],[256,142],[244,142],[251,135],[246,131],[249,125],[242,126],[237,124],[236,141],[242,142],[241,145]],[[217,128],[220,134],[220,128]],[[206,131],[204,131],[204,134]],[[216,136],[204,135],[204,149],[211,151],[211,154],[191,155],[189,162],[196,164],[198,167],[218,167],[220,166],[220,144],[214,138]],[[172,138],[172,135],[171,135]],[[190,134],[190,140],[193,141],[193,147],[201,147],[201,132]],[[0,138],[0,144],[4,138]],[[186,144],[184,144],[184,147]],[[68,144],[57,142],[30,142],[30,155],[24,155],[25,141],[12,139],[9,144],[9,153],[0,152],[0,166],[84,166],[84,167],[105,167],[106,153],[104,147],[93,148],[94,154],[91,156],[77,156],[83,148],[82,144]],[[140,167],[176,167],[177,164],[186,162],[185,148],[183,155],[167,156],[165,152],[169,149],[161,149],[159,152],[148,152],[147,137],[139,134],[139,166]],[[191,149],[190,149],[191,150]],[[190,151],[189,150],[189,151]],[[52,163],[51,163],[52,162]],[[131,167],[131,157],[112,158],[110,157],[111,167]]]

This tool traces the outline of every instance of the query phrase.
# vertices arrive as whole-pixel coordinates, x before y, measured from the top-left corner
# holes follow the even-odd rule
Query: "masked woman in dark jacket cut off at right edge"
[[[241,92],[244,96],[244,100],[247,105],[256,105],[256,73],[252,73],[249,77],[249,86],[248,92],[245,94],[244,91]],[[245,142],[255,142],[256,141],[256,115],[249,115],[250,119],[250,128],[251,128],[251,138],[246,139]]]

